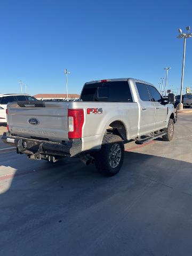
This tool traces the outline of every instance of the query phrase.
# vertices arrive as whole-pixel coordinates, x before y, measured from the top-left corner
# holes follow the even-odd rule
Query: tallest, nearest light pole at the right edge
[[[179,109],[183,109],[182,105],[182,89],[183,89],[183,76],[184,76],[184,68],[185,68],[185,51],[186,51],[186,39],[192,37],[192,34],[189,33],[190,27],[186,27],[187,33],[182,33],[182,30],[179,29],[180,35],[177,38],[184,38],[183,41],[183,61],[182,61],[182,75],[181,75],[181,91],[180,91],[180,102],[179,102]]]

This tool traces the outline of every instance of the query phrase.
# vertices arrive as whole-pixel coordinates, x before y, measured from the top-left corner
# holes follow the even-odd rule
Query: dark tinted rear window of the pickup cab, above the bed
[[[127,81],[111,81],[85,84],[81,94],[83,101],[133,102]]]

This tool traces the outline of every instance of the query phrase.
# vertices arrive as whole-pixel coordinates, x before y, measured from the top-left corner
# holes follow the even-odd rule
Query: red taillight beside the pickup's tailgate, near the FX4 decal
[[[82,138],[82,127],[84,124],[83,109],[68,109],[68,138]]]

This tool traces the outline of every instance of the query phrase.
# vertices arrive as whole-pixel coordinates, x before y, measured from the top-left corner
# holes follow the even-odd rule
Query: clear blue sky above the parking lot
[[[1,1],[0,93],[80,93],[87,81],[134,77],[158,87],[164,67],[179,88],[191,1]],[[191,29],[192,30],[192,29]],[[184,87],[192,87],[192,38]],[[170,86],[169,86],[170,87]]]

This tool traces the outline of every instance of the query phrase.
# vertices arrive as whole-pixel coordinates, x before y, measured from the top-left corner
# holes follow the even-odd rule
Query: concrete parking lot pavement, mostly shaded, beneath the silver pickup
[[[125,145],[105,178],[78,159],[0,154],[0,255],[191,255],[192,115],[171,142]]]

